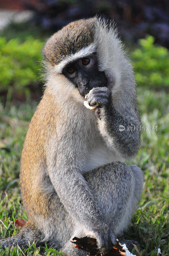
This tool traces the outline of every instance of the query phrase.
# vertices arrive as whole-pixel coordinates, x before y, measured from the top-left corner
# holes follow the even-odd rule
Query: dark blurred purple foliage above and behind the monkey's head
[[[123,40],[133,43],[150,34],[156,43],[169,46],[168,0],[39,0],[26,8],[35,11],[33,21],[45,30],[98,15],[114,20]]]

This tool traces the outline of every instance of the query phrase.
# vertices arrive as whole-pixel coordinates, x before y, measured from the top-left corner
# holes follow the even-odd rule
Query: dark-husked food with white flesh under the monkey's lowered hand
[[[120,244],[118,239],[117,244],[112,247],[112,249],[107,253],[102,253],[97,248],[97,240],[95,237],[90,236],[84,236],[84,237],[74,237],[70,242],[72,242],[74,247],[77,247],[77,249],[81,249],[88,252],[89,256],[136,256],[133,255],[129,250],[127,249],[125,244]]]

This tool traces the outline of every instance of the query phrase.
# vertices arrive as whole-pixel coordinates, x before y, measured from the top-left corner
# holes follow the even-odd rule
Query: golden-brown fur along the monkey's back
[[[48,213],[50,192],[43,188],[47,182],[46,138],[56,132],[59,118],[57,102],[53,98],[45,93],[40,101],[29,125],[21,156],[20,188],[24,206],[30,217],[33,212],[43,215]]]

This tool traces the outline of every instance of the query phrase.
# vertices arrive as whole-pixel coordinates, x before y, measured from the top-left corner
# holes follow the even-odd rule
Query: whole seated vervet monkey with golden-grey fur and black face
[[[55,33],[43,55],[46,89],[20,168],[28,222],[0,244],[46,241],[67,256],[86,256],[69,240],[94,236],[105,252],[130,223],[143,187],[141,169],[123,163],[140,145],[133,69],[116,31],[96,17]]]

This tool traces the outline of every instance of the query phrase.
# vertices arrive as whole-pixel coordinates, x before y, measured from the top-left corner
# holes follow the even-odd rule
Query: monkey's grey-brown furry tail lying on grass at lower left
[[[34,224],[30,221],[26,223],[26,225],[19,231],[15,236],[11,236],[6,239],[0,240],[0,247],[5,248],[5,246],[16,246],[17,244],[21,248],[26,248],[28,246],[28,242],[31,244],[33,242],[40,244],[43,237],[41,232],[34,226]]]

